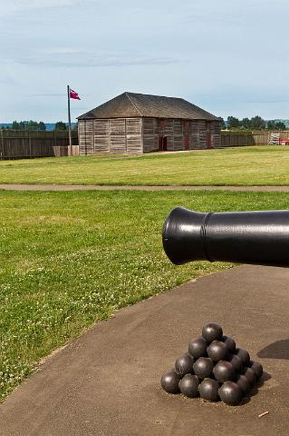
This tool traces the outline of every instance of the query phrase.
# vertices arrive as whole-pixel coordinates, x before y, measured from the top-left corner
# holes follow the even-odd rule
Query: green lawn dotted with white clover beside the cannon
[[[286,193],[0,191],[2,398],[94,322],[229,266],[169,263],[161,227],[172,207],[285,209],[288,202]]]

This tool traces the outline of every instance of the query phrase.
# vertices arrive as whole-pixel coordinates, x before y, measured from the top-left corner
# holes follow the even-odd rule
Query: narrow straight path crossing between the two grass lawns
[[[102,185],[102,184],[0,184],[0,190],[7,191],[265,191],[288,193],[289,186],[140,186],[140,185]]]

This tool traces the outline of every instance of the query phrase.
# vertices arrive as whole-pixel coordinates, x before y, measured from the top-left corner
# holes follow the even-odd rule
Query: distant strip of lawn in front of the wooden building
[[[289,147],[2,161],[0,183],[289,185]]]

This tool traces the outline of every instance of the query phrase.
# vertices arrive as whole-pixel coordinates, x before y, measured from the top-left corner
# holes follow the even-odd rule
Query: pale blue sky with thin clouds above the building
[[[0,123],[72,121],[130,91],[289,118],[288,0],[0,0]]]

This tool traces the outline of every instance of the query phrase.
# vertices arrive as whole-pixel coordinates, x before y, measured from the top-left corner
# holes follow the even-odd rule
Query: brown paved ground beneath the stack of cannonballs
[[[14,391],[0,406],[0,435],[288,436],[288,282],[289,269],[243,266],[121,310]],[[239,407],[159,387],[209,321],[265,367],[263,386]]]

